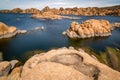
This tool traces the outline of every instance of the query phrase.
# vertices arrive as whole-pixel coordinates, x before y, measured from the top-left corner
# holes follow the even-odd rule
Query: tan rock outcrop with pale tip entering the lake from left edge
[[[17,30],[14,26],[7,26],[6,24],[0,22],[0,39],[10,38],[16,34],[26,33],[26,30]]]

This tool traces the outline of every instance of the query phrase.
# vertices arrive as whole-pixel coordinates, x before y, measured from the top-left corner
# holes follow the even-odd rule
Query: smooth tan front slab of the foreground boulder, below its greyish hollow
[[[33,73],[32,73],[33,72]],[[88,76],[54,62],[42,62],[35,66],[23,80],[91,80]]]

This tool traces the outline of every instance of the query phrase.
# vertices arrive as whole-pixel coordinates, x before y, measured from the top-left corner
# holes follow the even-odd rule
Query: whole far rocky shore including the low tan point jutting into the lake
[[[12,10],[0,10],[0,13],[21,13],[21,14],[32,14],[31,18],[37,19],[80,19],[76,17],[63,16],[63,15],[80,15],[80,16],[120,16],[120,6],[110,7],[88,7],[88,8],[49,8],[44,7],[42,10],[36,8],[30,8],[22,10],[20,8],[14,8]]]

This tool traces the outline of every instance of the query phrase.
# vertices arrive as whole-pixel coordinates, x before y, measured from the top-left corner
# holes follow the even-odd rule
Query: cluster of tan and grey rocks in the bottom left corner
[[[20,80],[22,67],[16,67],[17,63],[18,60],[0,62],[0,80]]]

